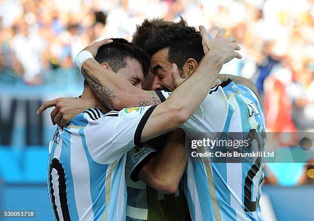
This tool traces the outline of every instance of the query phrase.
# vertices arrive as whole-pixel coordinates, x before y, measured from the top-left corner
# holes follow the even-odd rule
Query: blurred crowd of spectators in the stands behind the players
[[[97,39],[131,40],[146,17],[219,27],[237,38],[242,60],[222,72],[247,77],[265,99],[267,130],[314,128],[314,0],[0,0],[0,77],[42,84]]]

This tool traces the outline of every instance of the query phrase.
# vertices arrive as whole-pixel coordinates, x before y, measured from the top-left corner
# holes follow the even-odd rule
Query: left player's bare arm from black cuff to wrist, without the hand
[[[141,142],[180,127],[193,115],[208,95],[222,68],[222,62],[213,62],[213,59],[210,53],[205,54],[192,75],[166,101],[155,107],[144,126]],[[172,64],[172,72],[178,72],[177,69]]]

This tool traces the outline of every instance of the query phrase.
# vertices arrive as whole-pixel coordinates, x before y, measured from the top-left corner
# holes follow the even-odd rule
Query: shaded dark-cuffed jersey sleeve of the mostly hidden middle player
[[[138,174],[144,165],[156,155],[156,150],[144,143],[142,148],[134,146],[127,153],[126,175],[134,182],[139,181]]]

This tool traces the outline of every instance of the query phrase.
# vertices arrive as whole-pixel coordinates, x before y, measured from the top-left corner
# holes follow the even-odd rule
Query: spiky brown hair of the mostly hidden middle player
[[[187,26],[187,23],[183,17],[180,17],[180,21],[177,23],[166,21],[161,17],[145,19],[142,25],[136,25],[136,30],[132,36],[132,43],[137,47],[144,49],[145,42],[153,38],[156,32],[161,29],[168,28],[174,24]]]

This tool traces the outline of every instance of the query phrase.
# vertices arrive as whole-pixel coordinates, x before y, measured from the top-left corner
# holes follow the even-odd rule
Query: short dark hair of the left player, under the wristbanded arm
[[[95,60],[98,63],[108,63],[110,68],[117,72],[126,67],[126,59],[139,61],[143,68],[144,76],[149,70],[150,61],[143,49],[134,46],[125,39],[111,39],[112,43],[101,46],[96,54]]]

